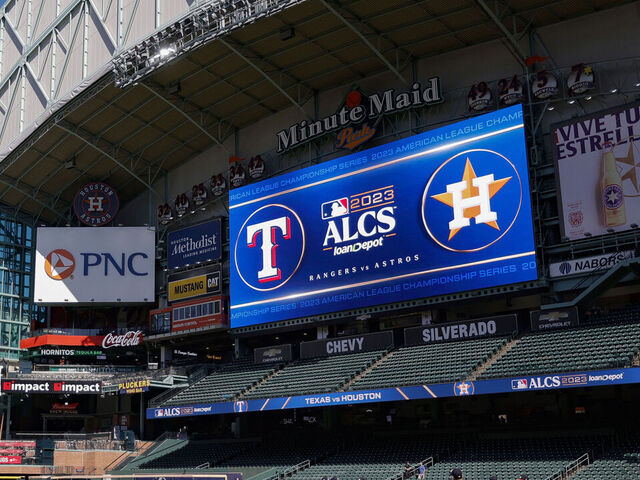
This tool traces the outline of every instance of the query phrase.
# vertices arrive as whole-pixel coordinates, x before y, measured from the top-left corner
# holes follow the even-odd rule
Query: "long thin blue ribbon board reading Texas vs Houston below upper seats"
[[[556,390],[575,387],[602,387],[640,383],[640,368],[620,368],[574,373],[522,376],[477,380],[473,382],[438,383],[409,387],[358,390],[353,392],[320,393],[296,397],[236,400],[235,402],[207,403],[183,407],[147,408],[148,419],[190,417],[195,415],[220,415],[225,413],[261,412],[290,408],[328,407],[332,405],[356,405],[359,403],[394,402],[438,397],[487,395],[492,393],[527,392],[531,390]]]

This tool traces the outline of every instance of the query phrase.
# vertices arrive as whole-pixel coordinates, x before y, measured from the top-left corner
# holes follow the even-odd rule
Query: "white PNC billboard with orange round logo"
[[[38,228],[34,301],[153,302],[155,230]]]

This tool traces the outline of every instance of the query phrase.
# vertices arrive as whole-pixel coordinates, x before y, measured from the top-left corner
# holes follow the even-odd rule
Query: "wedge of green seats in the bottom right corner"
[[[571,477],[574,480],[640,478],[640,436],[623,440],[615,449]]]

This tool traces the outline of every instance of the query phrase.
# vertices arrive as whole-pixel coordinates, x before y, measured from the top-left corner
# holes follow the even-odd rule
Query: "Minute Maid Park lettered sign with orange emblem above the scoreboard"
[[[415,82],[406,92],[396,93],[394,89],[385,90],[364,97],[359,91],[352,91],[334,114],[309,122],[303,120],[276,134],[278,152],[284,152],[314,140],[331,132],[338,133],[338,148],[353,150],[369,140],[376,132],[368,122],[381,115],[397,113],[407,108],[423,107],[443,102],[440,78],[432,77],[423,87]],[[351,125],[351,127],[350,127]],[[353,126],[358,126],[354,128]]]

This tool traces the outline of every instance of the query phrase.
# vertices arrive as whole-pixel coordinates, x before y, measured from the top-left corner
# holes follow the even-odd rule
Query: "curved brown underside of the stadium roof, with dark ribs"
[[[317,92],[384,72],[409,83],[413,61],[496,39],[524,64],[519,40],[532,29],[623,3],[631,2],[298,2],[212,37],[135,85],[118,88],[110,73],[88,87],[0,164],[0,203],[66,223],[88,181],[108,182],[126,203],[237,129],[292,106],[308,116],[302,105]]]

